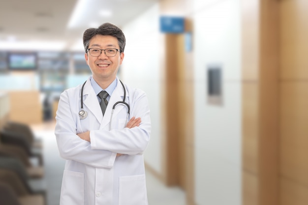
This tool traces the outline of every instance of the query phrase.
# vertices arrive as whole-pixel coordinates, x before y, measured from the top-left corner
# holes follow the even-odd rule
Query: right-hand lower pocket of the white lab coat
[[[119,205],[148,205],[145,175],[120,177]]]

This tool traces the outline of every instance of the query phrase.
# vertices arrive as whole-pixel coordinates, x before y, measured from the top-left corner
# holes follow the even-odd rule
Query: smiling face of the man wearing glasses
[[[90,40],[89,48],[119,49],[114,57],[106,56],[104,51],[97,57],[91,56],[89,52],[85,54],[93,79],[98,84],[109,86],[116,79],[117,72],[124,58],[124,54],[120,53],[118,39],[111,35],[95,35]]]

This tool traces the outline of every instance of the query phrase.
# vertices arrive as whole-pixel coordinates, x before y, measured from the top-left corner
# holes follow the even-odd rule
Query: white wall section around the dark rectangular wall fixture
[[[241,205],[239,0],[194,0],[195,202]],[[223,104],[207,103],[206,67],[222,65]]]

